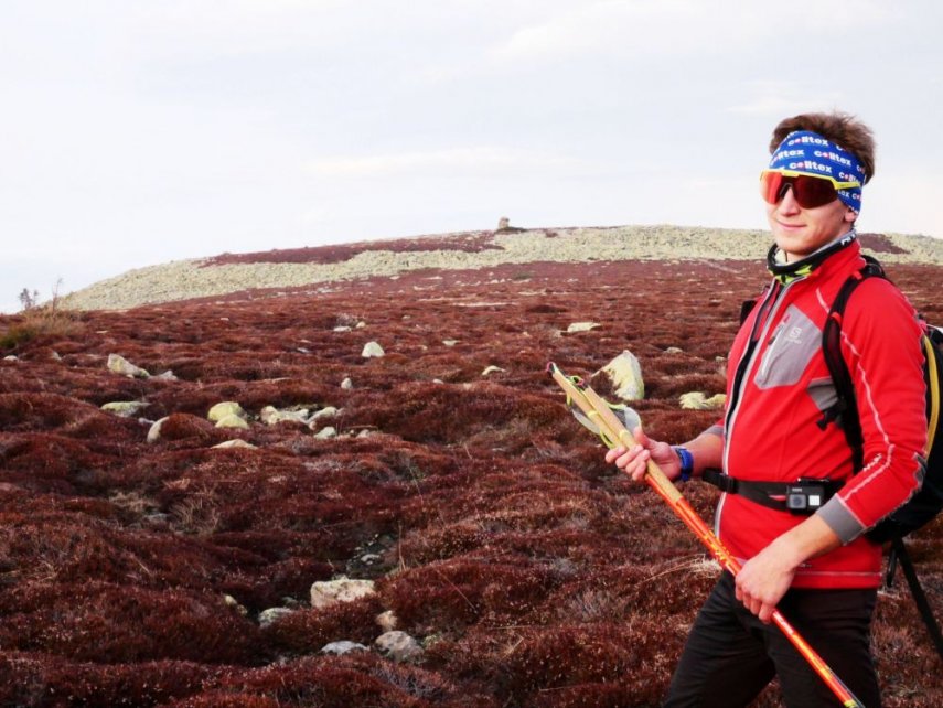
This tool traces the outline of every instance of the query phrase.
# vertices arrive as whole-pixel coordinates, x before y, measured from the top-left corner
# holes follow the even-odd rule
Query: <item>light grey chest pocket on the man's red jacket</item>
[[[794,386],[822,350],[822,330],[794,304],[770,335],[753,375],[758,388]]]

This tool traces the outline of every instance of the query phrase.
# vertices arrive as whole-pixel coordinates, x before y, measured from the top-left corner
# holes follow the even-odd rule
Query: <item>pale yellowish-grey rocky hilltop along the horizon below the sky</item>
[[[943,239],[864,234],[886,262],[943,265]],[[71,294],[69,308],[126,309],[140,304],[258,291],[317,293],[343,280],[398,277],[429,270],[480,270],[528,262],[600,260],[760,260],[767,232],[618,226],[474,232],[174,261],[129,271]]]

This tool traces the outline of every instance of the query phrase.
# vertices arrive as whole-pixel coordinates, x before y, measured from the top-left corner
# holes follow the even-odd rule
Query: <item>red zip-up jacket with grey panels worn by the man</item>
[[[879,586],[880,546],[861,534],[910,498],[923,480],[922,328],[907,298],[882,278],[869,278],[855,290],[842,325],[865,438],[860,473],[853,474],[842,429],[817,425],[835,401],[822,328],[842,283],[864,265],[853,242],[802,278],[785,286],[774,280],[730,351],[724,471],[765,482],[800,476],[845,482],[816,512],[844,545],[803,564],[793,587]],[[751,336],[757,344],[749,351]],[[727,547],[746,560],[804,518],[724,494],[716,525]]]

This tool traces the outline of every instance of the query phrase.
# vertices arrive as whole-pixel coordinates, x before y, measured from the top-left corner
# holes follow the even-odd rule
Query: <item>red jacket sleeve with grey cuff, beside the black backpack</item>
[[[847,544],[907,502],[923,483],[926,444],[922,328],[907,299],[880,278],[862,282],[842,325],[855,385],[865,468],[818,514]]]

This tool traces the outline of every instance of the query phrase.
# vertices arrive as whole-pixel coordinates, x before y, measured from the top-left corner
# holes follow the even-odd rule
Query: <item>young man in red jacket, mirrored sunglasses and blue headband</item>
[[[836,395],[822,329],[842,285],[865,265],[854,227],[861,187],[874,175],[874,140],[850,116],[808,114],[783,120],[770,151],[760,184],[775,242],[768,257],[773,279],[733,342],[724,419],[674,448],[636,429],[639,444],[606,459],[635,480],[649,459],[671,479],[714,468],[727,475],[715,478],[728,490],[715,525],[743,569],[736,580],[725,572],[701,608],[666,706],[747,706],[773,676],[791,708],[835,706],[770,623],[779,608],[876,708],[870,621],[881,548],[862,534],[923,480],[922,330],[882,278],[866,280],[848,301],[842,354],[865,438],[865,466],[855,474],[840,421],[825,416]],[[800,478],[828,480],[805,513],[785,508],[779,494]]]

